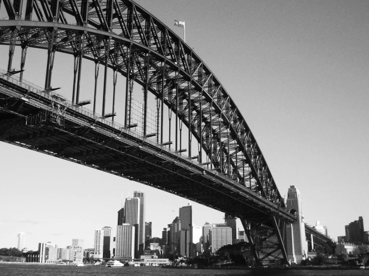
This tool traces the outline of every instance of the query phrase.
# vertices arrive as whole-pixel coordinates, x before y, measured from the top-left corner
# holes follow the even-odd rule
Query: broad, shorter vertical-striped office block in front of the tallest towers
[[[136,224],[137,225],[137,224]],[[116,260],[132,260],[135,255],[135,240],[134,236],[137,231],[135,227],[123,223],[117,226],[117,232],[115,237],[115,256]]]

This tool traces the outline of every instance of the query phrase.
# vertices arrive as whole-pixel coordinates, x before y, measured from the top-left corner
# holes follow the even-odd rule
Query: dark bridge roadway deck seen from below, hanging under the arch
[[[250,222],[265,224],[272,215],[288,223],[296,220],[243,184],[30,83],[0,74],[0,98],[1,141],[141,182]]]

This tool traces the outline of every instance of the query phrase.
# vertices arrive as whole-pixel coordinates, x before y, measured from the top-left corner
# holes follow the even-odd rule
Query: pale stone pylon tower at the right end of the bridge
[[[287,224],[287,254],[291,263],[298,264],[306,259],[308,248],[305,237],[305,221],[301,195],[299,189],[295,186],[290,186],[288,189],[287,210],[297,218],[294,223]]]

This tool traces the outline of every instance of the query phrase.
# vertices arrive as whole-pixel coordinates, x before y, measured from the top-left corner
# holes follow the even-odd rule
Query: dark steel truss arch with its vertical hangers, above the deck
[[[131,127],[127,103],[136,82],[144,90],[144,112],[151,92],[161,101],[161,118],[164,105],[175,114],[178,152],[182,150],[177,134],[180,121],[188,128],[189,157],[193,156],[194,137],[202,149],[198,151],[200,162],[204,151],[211,168],[280,210],[286,207],[256,139],[228,92],[196,53],[156,17],[131,0],[26,0],[25,9],[22,4],[22,0],[3,0],[8,20],[0,20],[0,43],[9,45],[9,74],[16,45],[22,47],[20,74],[27,47],[43,48],[48,53],[48,89],[55,52],[73,54],[72,102],[81,104],[82,60],[94,60],[97,74],[98,65],[105,66],[102,116],[106,116],[106,74],[107,68],[112,68],[114,74],[126,77],[125,128]],[[143,132],[148,137],[145,123]],[[163,122],[158,137],[159,133],[163,145]],[[237,212],[234,215],[241,217]],[[244,221],[258,221],[242,215]],[[279,229],[272,213],[270,217],[264,224]]]

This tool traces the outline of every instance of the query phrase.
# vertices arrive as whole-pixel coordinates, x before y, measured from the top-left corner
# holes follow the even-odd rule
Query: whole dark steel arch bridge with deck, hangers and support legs
[[[0,20],[0,44],[9,46],[8,57],[1,57],[8,63],[0,73],[1,141],[231,214],[241,219],[257,263],[288,263],[285,225],[295,216],[286,210],[228,92],[167,26],[132,0],[2,0],[0,9],[7,15]],[[13,68],[15,46],[21,47],[18,70]],[[23,80],[28,47],[47,51],[42,88]],[[74,57],[72,99],[58,96],[51,86],[55,52]],[[95,63],[92,101],[80,100],[85,60]],[[100,65],[102,95],[97,89]],[[112,91],[108,70],[113,72]],[[116,110],[119,75],[125,78],[121,112]],[[143,91],[141,126],[133,120],[134,83]],[[156,99],[154,131],[148,127],[149,95]],[[101,115],[97,97],[102,97]],[[111,108],[107,98],[112,98]],[[83,107],[87,104],[92,110]],[[169,123],[163,119],[164,106]],[[124,112],[122,125],[114,122],[117,112]]]

